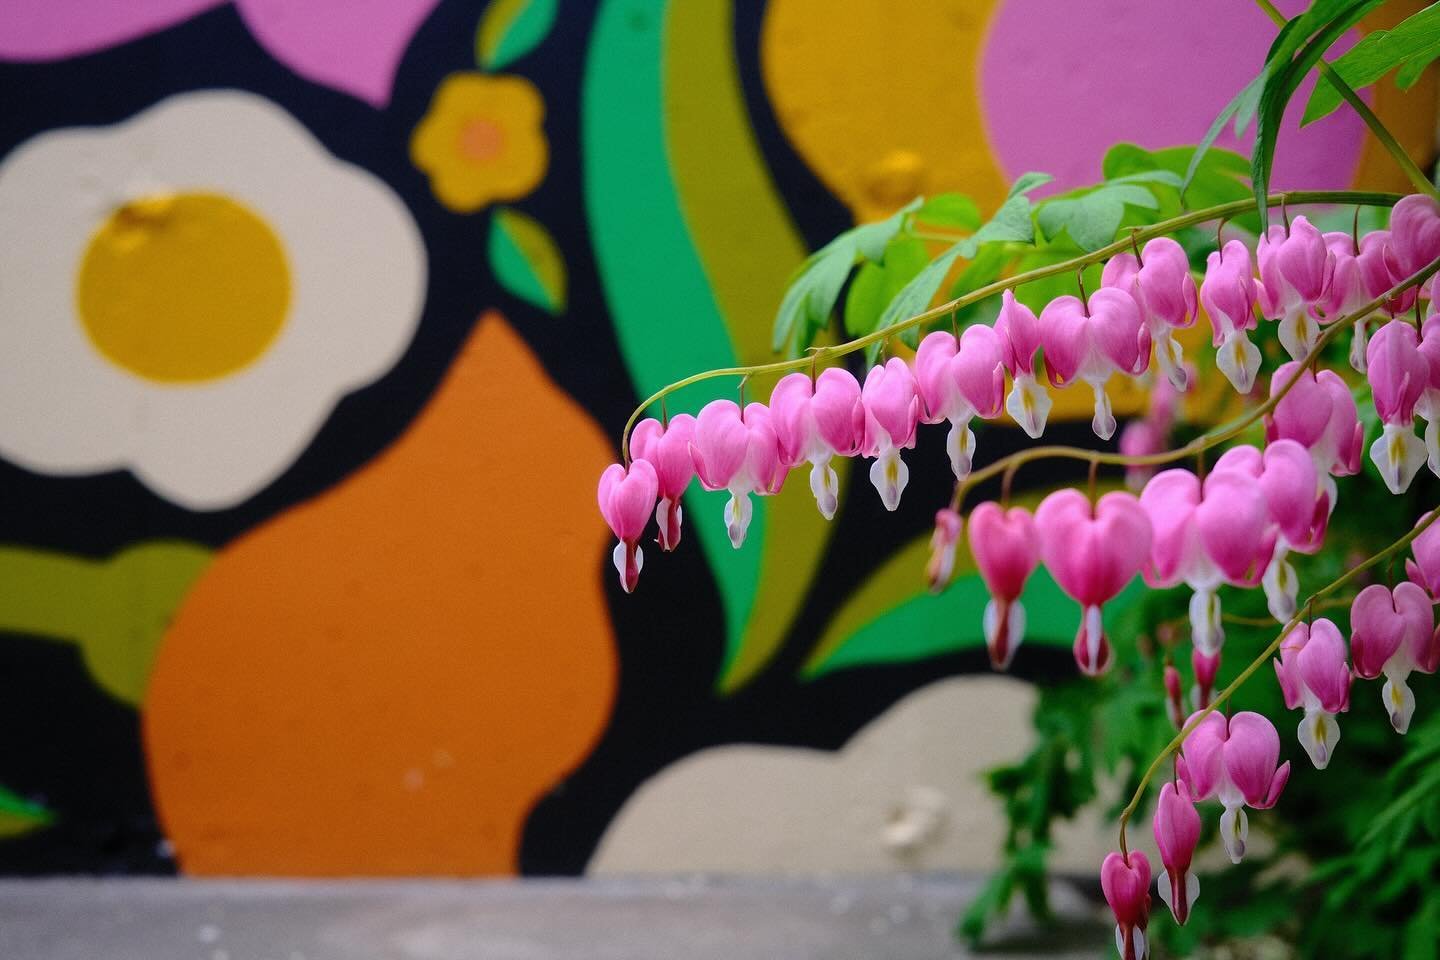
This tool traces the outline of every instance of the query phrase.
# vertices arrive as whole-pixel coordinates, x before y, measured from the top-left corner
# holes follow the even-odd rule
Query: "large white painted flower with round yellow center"
[[[35,137],[0,161],[0,456],[130,469],[190,510],[276,479],[400,358],[425,298],[400,199],[240,91]],[[238,236],[269,253],[235,261]]]

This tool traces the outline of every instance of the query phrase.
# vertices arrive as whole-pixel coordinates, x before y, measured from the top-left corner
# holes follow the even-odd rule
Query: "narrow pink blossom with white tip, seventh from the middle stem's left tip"
[[[1369,445],[1369,459],[1380,469],[1391,494],[1410,488],[1426,462],[1426,445],[1416,436],[1416,404],[1430,386],[1430,361],[1420,353],[1416,328],[1392,320],[1369,341],[1365,351],[1367,379],[1384,430]]]

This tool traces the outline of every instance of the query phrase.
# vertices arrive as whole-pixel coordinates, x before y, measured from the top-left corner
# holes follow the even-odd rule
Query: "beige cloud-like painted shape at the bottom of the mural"
[[[982,774],[1030,747],[1034,705],[1028,684],[958,676],[910,694],[838,753],[727,746],[693,754],[635,792],[589,872],[988,869],[1004,820]],[[1056,869],[1093,872],[1109,851],[1099,806],[1058,830]],[[903,841],[913,845],[897,848]]]

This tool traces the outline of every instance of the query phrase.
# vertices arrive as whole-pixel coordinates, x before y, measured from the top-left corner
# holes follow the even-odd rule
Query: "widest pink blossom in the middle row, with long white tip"
[[[1220,622],[1223,583],[1254,584],[1270,561],[1274,537],[1266,538],[1270,512],[1259,485],[1228,472],[1201,484],[1187,469],[1156,474],[1139,499],[1153,537],[1145,581],[1176,583],[1194,590],[1189,625],[1195,649],[1214,653],[1224,643]]]

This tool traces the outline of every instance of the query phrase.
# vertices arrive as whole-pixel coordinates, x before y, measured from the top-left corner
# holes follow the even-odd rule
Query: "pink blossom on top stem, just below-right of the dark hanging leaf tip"
[[[1335,256],[1325,237],[1303,216],[1289,229],[1272,226],[1256,248],[1260,262],[1260,309],[1280,321],[1280,345],[1295,360],[1303,360],[1319,338],[1319,324],[1310,315],[1323,309],[1331,292]]]

